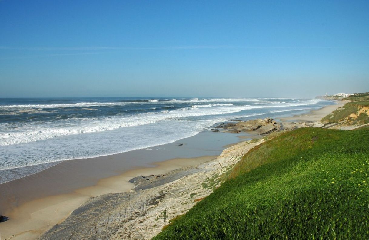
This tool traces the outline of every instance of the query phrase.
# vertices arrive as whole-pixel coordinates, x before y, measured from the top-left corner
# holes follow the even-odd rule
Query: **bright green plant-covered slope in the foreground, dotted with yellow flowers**
[[[154,239],[368,239],[368,143],[365,129],[283,133]]]

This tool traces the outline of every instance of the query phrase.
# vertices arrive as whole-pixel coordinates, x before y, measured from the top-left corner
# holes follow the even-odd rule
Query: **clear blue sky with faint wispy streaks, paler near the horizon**
[[[369,91],[369,1],[0,0],[0,97]]]

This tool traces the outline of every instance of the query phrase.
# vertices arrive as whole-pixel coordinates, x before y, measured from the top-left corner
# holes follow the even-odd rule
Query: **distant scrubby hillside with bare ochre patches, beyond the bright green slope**
[[[368,124],[369,101],[348,102],[321,120],[327,123]]]

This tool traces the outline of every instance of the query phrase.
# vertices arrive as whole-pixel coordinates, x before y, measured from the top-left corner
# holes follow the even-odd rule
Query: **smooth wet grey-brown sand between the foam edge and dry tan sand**
[[[248,134],[244,136],[250,138]],[[9,215],[9,209],[17,208],[25,202],[93,187],[102,179],[124,174],[131,170],[152,168],[157,166],[159,162],[218,156],[226,147],[220,141],[223,139],[225,143],[240,142],[238,136],[231,133],[218,135],[213,132],[201,132],[196,137],[193,136],[151,148],[107,156],[61,161],[38,173],[0,184],[0,192],[6,193],[0,195],[0,215]]]

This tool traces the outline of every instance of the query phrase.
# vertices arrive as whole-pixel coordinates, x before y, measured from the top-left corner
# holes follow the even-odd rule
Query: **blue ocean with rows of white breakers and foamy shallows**
[[[0,98],[0,184],[63,160],[175,142],[228,119],[329,104],[293,98]]]

